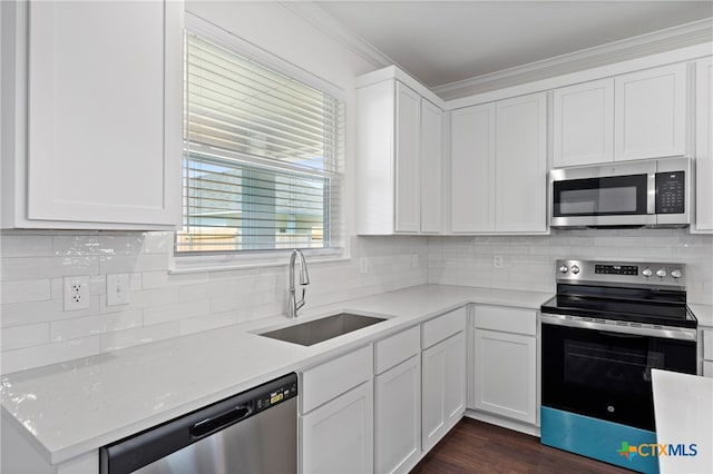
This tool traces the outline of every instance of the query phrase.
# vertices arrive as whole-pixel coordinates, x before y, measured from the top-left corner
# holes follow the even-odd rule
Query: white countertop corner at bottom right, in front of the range
[[[661,473],[713,473],[713,378],[653,369],[652,386],[656,443],[677,451],[658,456]]]

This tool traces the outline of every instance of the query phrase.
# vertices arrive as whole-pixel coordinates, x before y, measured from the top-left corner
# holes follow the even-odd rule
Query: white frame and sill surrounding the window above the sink
[[[235,53],[243,56],[250,60],[253,60],[265,68],[270,68],[277,73],[291,77],[300,82],[303,82],[314,89],[318,89],[324,93],[328,93],[343,103],[346,108],[345,99],[346,93],[340,87],[320,78],[319,76],[291,63],[274,53],[266,51],[254,43],[251,43],[234,33],[206,21],[191,12],[185,13],[185,30],[187,32],[195,33],[217,46],[235,51]],[[344,116],[346,117],[346,116]],[[343,132],[345,132],[345,125]],[[185,140],[185,137],[184,137]],[[345,144],[345,137],[342,136],[342,144]],[[182,160],[186,159],[187,146],[184,142],[184,156]],[[344,152],[342,150],[341,169],[336,174],[339,194],[342,196],[336,203],[340,209],[336,213],[330,210],[332,216],[338,217],[338,221],[331,221],[331,226],[339,227],[340,238],[335,243],[335,246],[328,248],[303,248],[302,251],[307,258],[313,261],[342,261],[348,260],[349,257],[349,238],[345,229],[345,213],[344,213]],[[182,166],[183,168],[183,166]],[[184,186],[182,180],[182,187]],[[330,208],[333,203],[330,203]],[[183,216],[183,206],[182,206]],[[330,220],[332,220],[330,218]],[[183,221],[183,217],[182,217]],[[286,265],[292,249],[263,249],[263,250],[228,250],[228,251],[185,251],[179,253],[176,248],[176,236],[178,229],[173,233],[172,251],[169,251],[169,265],[168,270],[172,274],[182,273],[196,273],[196,271],[213,271],[213,270],[228,270],[241,268],[260,268],[270,266]]]

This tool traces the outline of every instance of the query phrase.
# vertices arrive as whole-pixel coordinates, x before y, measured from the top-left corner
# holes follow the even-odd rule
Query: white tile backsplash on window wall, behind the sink
[[[411,255],[426,263],[426,238],[353,237],[351,260],[309,265],[305,308],[423,284]],[[172,251],[169,233],[3,233],[2,373],[284,313],[286,265],[170,275]],[[114,273],[131,276],[127,305],[106,304]],[[62,278],[76,275],[90,276],[90,307],[65,312]]]

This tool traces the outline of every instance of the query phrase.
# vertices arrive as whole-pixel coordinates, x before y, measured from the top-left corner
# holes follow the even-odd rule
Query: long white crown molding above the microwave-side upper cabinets
[[[713,18],[709,18],[438,86],[431,90],[443,100],[459,99],[712,41]]]

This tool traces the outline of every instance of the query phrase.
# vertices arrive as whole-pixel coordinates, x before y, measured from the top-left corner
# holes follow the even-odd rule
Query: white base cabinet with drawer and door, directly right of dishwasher
[[[371,345],[300,374],[301,473],[373,471],[372,374]]]

